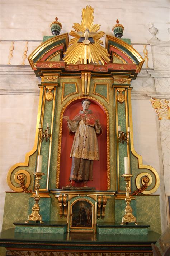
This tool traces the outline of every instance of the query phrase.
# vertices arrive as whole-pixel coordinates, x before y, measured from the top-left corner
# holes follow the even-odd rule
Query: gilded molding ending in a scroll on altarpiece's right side
[[[129,123],[130,123],[129,126],[131,127],[131,133],[130,133],[131,152],[138,159],[138,168],[139,169],[148,169],[155,176],[155,184],[151,183],[151,185],[154,186],[154,187],[152,189],[150,189],[150,190],[145,190],[145,191],[142,192],[142,194],[150,195],[150,194],[156,192],[156,190],[158,189],[159,184],[160,184],[160,178],[159,178],[159,174],[156,172],[156,170],[152,166],[150,166],[150,165],[143,165],[142,156],[138,155],[137,152],[134,149],[134,144],[133,144],[133,123],[132,123],[132,105],[131,105],[131,88],[128,89],[128,99],[129,99]],[[136,187],[137,188],[140,188],[138,179],[140,179],[143,176],[147,176],[150,179],[150,182],[152,180],[151,175],[149,173],[146,173],[146,171],[143,172],[143,173],[138,174],[137,177],[136,177]]]

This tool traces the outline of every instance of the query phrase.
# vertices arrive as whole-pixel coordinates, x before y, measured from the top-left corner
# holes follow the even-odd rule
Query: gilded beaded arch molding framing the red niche
[[[107,118],[107,189],[110,189],[110,140],[109,140],[109,113],[107,108],[105,107],[105,105],[99,101],[98,99],[95,99],[94,97],[90,97],[90,96],[86,96],[87,99],[91,99],[94,100],[96,102],[98,102],[104,109],[105,113],[106,113],[106,118]],[[65,109],[67,108],[67,106],[78,99],[83,99],[84,97],[79,96],[76,97],[70,101],[68,101],[60,114],[60,128],[59,128],[59,137],[58,137],[58,157],[57,157],[57,175],[56,175],[56,188],[59,187],[59,178],[60,178],[60,159],[61,159],[61,138],[62,138],[62,122],[63,122],[63,114]]]

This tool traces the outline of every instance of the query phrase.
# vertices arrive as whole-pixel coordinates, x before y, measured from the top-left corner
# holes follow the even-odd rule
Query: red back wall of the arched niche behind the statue
[[[81,101],[83,99],[77,99],[71,102],[63,116],[69,116],[72,120],[80,110],[82,110]],[[103,107],[96,101],[91,100],[89,109],[93,111],[93,114],[100,120],[103,134],[98,137],[99,147],[99,161],[93,161],[93,180],[88,181],[88,187],[95,187],[96,190],[107,190],[107,120],[106,113]],[[71,147],[73,143],[74,135],[69,135],[67,128],[67,121],[63,119],[62,124],[62,140],[61,140],[61,159],[60,159],[60,178],[59,188],[66,186],[69,183],[72,158],[70,157]],[[76,187],[81,187],[82,182],[77,182]]]

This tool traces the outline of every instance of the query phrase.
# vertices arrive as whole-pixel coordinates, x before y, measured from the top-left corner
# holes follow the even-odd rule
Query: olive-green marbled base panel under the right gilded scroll
[[[160,202],[158,195],[141,195],[136,197],[137,222],[144,222],[148,230],[161,234]]]

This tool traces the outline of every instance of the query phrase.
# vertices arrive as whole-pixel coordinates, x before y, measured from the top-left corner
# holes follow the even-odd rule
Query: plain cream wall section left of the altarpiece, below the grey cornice
[[[11,166],[24,162],[34,146],[39,96],[0,95],[0,230],[5,191],[11,191],[6,176]]]

